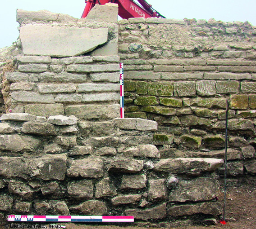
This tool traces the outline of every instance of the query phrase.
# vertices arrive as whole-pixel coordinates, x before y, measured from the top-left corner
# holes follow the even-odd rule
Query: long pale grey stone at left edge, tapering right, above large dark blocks
[[[0,150],[35,151],[40,143],[40,140],[31,136],[0,135]]]

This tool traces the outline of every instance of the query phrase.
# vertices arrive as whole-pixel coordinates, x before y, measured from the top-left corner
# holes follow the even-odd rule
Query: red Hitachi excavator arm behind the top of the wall
[[[165,18],[152,8],[146,0],[138,0],[142,7],[133,0],[86,0],[86,6],[82,13],[82,18],[86,18],[91,8],[95,4],[105,5],[108,2],[117,3],[119,6],[118,14],[121,18]]]

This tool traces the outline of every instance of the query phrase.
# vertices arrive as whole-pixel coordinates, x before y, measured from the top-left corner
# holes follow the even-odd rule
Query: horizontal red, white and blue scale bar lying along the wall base
[[[16,222],[134,222],[133,216],[21,216],[10,215]]]

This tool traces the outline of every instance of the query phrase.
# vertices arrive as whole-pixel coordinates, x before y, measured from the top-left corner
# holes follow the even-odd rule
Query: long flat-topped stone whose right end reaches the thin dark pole
[[[199,175],[201,172],[213,172],[223,163],[222,159],[210,158],[160,159],[153,170],[155,172]]]

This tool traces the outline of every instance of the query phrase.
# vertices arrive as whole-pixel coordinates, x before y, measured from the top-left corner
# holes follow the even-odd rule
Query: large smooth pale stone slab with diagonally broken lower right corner
[[[108,39],[107,28],[26,25],[20,28],[25,55],[72,57],[90,52]]]

